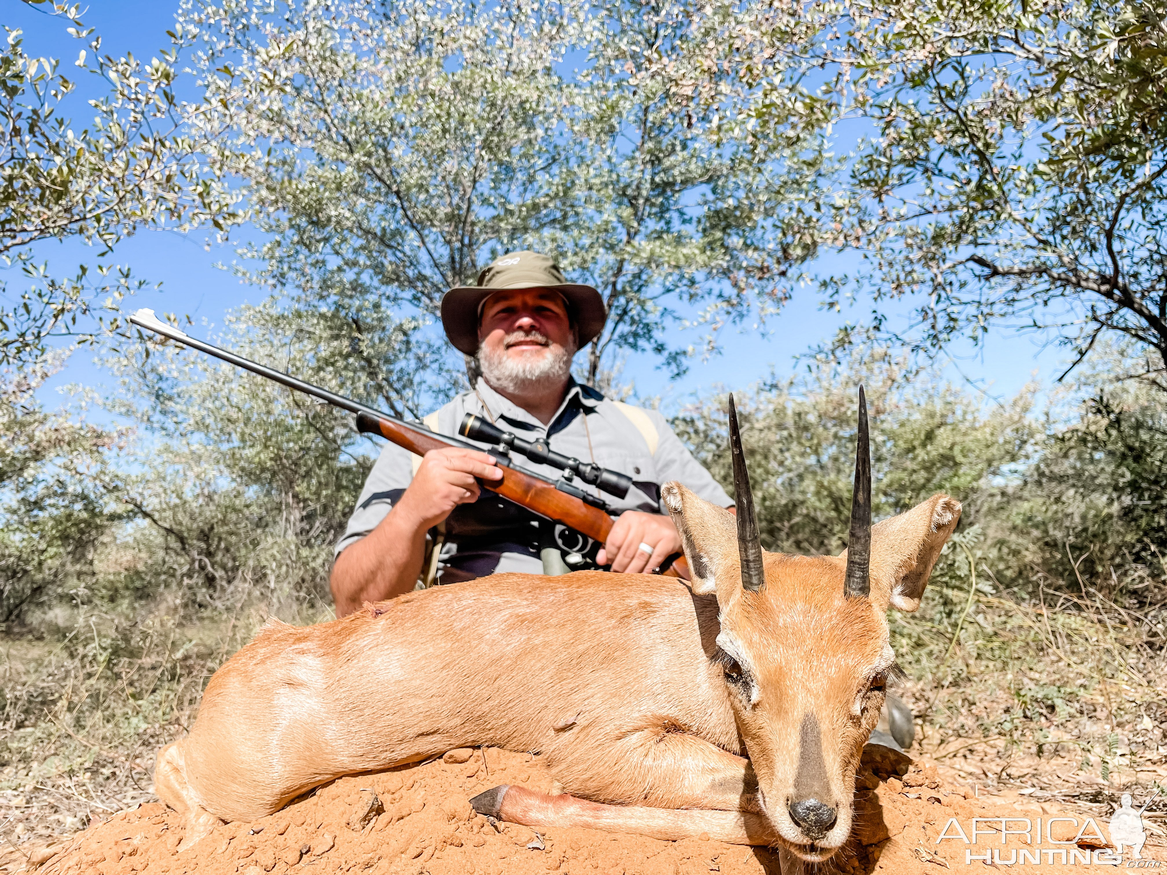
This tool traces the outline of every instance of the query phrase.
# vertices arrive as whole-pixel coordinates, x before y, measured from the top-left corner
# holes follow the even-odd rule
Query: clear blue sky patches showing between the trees
[[[148,60],[169,43],[166,30],[173,23],[173,0],[92,0],[84,16],[88,26],[96,27],[103,37],[103,51],[123,55],[133,51]],[[0,0],[4,9],[2,23],[25,32],[25,48],[30,54],[50,55],[64,60],[67,68],[84,43],[65,33],[68,22],[53,19],[28,7],[20,0]],[[84,78],[78,93],[68,106],[67,114],[75,124],[88,121],[89,107],[84,105]],[[75,270],[78,261],[92,260],[88,252],[72,243],[53,244],[37,250],[39,258],[49,259],[62,272]],[[161,292],[144,292],[126,300],[123,307],[132,312],[138,307],[152,307],[159,312],[190,315],[196,324],[205,320],[212,327],[222,324],[224,312],[244,302],[259,302],[265,293],[256,287],[242,285],[230,272],[218,270],[215,264],[230,261],[230,249],[204,246],[202,236],[184,236],[168,231],[140,232],[119,244],[114,251],[116,264],[128,264],[134,274],[152,285],[162,284]],[[15,276],[9,278],[16,280]],[[18,280],[19,281],[19,280]],[[746,387],[768,376],[771,370],[780,374],[790,373],[795,357],[809,346],[825,342],[847,321],[861,322],[867,309],[859,304],[841,314],[818,307],[813,290],[808,289],[795,300],[777,318],[773,318],[767,330],[759,331],[752,326],[741,329],[728,328],[722,334],[722,354],[707,362],[693,362],[690,372],[680,380],[671,380],[656,368],[649,357],[633,356],[627,360],[623,379],[635,380],[641,396],[661,396],[666,408],[673,407],[694,392],[708,392],[714,386],[729,388]],[[201,329],[207,332],[207,329]],[[693,336],[693,342],[698,337]],[[987,387],[990,394],[1007,398],[1015,394],[1036,374],[1046,382],[1060,373],[1060,363],[1065,358],[1062,349],[1042,345],[1041,337],[1012,330],[994,332],[979,348],[952,348],[955,364],[944,365],[953,382],[970,380],[973,385]],[[1062,365],[1064,366],[1064,365]],[[64,371],[42,392],[46,402],[53,404],[55,391],[68,383],[102,386],[109,382],[107,374],[95,366],[91,354],[82,350],[72,356]]]

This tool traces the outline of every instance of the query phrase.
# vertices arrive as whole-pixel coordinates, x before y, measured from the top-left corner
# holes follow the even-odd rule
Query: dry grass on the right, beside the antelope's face
[[[1151,799],[1167,785],[1163,606],[1132,610],[1089,581],[1030,598],[980,570],[981,586],[932,587],[920,614],[893,620],[917,749],[1034,810],[1109,817],[1124,792]],[[1167,835],[1163,794],[1146,818]]]

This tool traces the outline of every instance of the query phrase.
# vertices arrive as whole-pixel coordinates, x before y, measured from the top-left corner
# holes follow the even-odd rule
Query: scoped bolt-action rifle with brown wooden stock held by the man
[[[190,337],[177,328],[162,322],[154,315],[154,310],[152,309],[142,308],[138,310],[130,316],[130,321],[147,331],[169,337],[172,341],[184,346],[191,346],[209,356],[233,364],[237,368],[243,368],[252,373],[258,373],[260,377],[274,380],[296,392],[303,392],[334,407],[340,407],[343,411],[356,414],[358,432],[363,434],[378,434],[415,455],[424,456],[429,450],[441,449],[442,447],[462,447],[482,452],[480,447],[473,443],[461,441],[457,438],[436,434],[425,425],[406,422],[387,413],[382,413],[372,407],[354,401],[350,398],[329,392],[327,388],[305,383],[291,374],[252,362],[243,356],[237,356],[233,352],[229,352],[205,341],[200,341],[196,337]],[[463,424],[463,429],[466,425]],[[463,433],[466,432],[463,430]],[[510,435],[506,436],[510,438]],[[565,558],[568,565],[582,567],[588,561],[595,564],[595,554],[599,553],[600,547],[608,539],[608,533],[613,526],[613,519],[608,516],[608,504],[598,496],[588,495],[569,481],[573,478],[573,475],[576,475],[585,482],[594,483],[600,489],[621,497],[628,492],[628,485],[631,484],[631,481],[624,477],[624,475],[609,471],[599,466],[584,466],[578,460],[567,460],[558,453],[547,450],[546,444],[541,442],[529,444],[525,441],[518,441],[517,443],[524,446],[515,446],[516,441],[512,439],[509,443],[501,441],[499,449],[485,450],[494,456],[503,471],[503,477],[501,481],[491,483],[478,481],[480,485],[497,492],[504,498],[509,498],[515,504],[526,508],[529,511],[551,523],[558,523],[578,536],[582,536],[579,544],[581,546],[588,545],[586,552],[568,553]],[[524,455],[533,452],[537,454],[530,456],[533,461],[546,461],[551,464],[557,464],[557,467],[564,470],[564,476],[553,482],[534,471],[520,468],[511,460],[508,453],[509,449],[518,449]],[[560,462],[564,464],[559,464]],[[622,492],[620,491],[621,488],[623,489]],[[665,570],[663,573],[669,576],[687,576],[689,567],[683,555],[679,558],[670,556],[665,560],[664,567]]]

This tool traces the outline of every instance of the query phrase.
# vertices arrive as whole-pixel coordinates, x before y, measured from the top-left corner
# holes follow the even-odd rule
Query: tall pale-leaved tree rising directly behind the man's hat
[[[495,254],[537,249],[608,303],[589,379],[617,348],[682,370],[684,318],[708,338],[785,300],[824,158],[813,133],[713,136],[724,110],[637,74],[687,38],[677,8],[188,0],[191,135],[264,232],[240,270],[291,307],[426,320]]]

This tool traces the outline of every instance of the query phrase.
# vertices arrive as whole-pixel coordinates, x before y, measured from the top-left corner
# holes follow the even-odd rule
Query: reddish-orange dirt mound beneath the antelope
[[[942,869],[984,872],[985,863],[966,864],[965,854],[986,852],[997,858],[988,864],[1008,864],[1011,853],[1039,850],[1039,842],[1025,836],[1000,836],[1000,818],[1013,819],[1009,830],[1021,828],[1020,818],[1041,818],[1048,810],[1023,802],[978,799],[971,790],[945,786],[932,766],[906,769],[893,761],[865,757],[857,792],[858,822],[852,840],[819,872],[886,873],[887,875],[939,875]],[[874,771],[872,771],[874,769]],[[896,775],[904,771],[904,775]],[[617,835],[589,830],[550,830],[545,834],[515,826],[492,824],[475,814],[468,799],[498,784],[518,784],[550,792],[552,778],[538,757],[530,754],[488,749],[450,751],[442,760],[403,766],[385,772],[341,778],[294,802],[271,817],[247,824],[216,828],[191,848],[179,853],[182,821],[158,803],[124,811],[75,835],[43,862],[46,875],[128,875],[130,873],[284,873],[356,872],[371,875],[707,875],[708,873],[780,873],[778,856],[766,848],[721,845],[690,839],[668,842],[637,835]],[[972,798],[970,798],[972,797]],[[972,834],[974,818],[995,818],[997,825],[979,820],[976,845],[959,838],[937,844],[946,828]],[[1084,816],[1078,814],[1081,824]],[[1040,868],[1054,875],[1074,872],[1089,858],[1092,831],[1074,844],[1068,821],[1049,825],[1056,845],[1039,850]],[[1105,828],[1105,824],[1100,825]],[[1046,835],[1049,830],[1042,826]],[[1105,833],[1103,833],[1105,834]],[[54,848],[41,849],[40,861]],[[1061,853],[1076,852],[1077,858]],[[1130,852],[1127,852],[1130,853]],[[1144,859],[1167,860],[1162,847],[1142,849]],[[1025,858],[1022,858],[1023,860]],[[21,868],[28,866],[23,863]],[[1162,864],[1162,863],[1160,863]],[[9,870],[16,870],[13,867]]]

